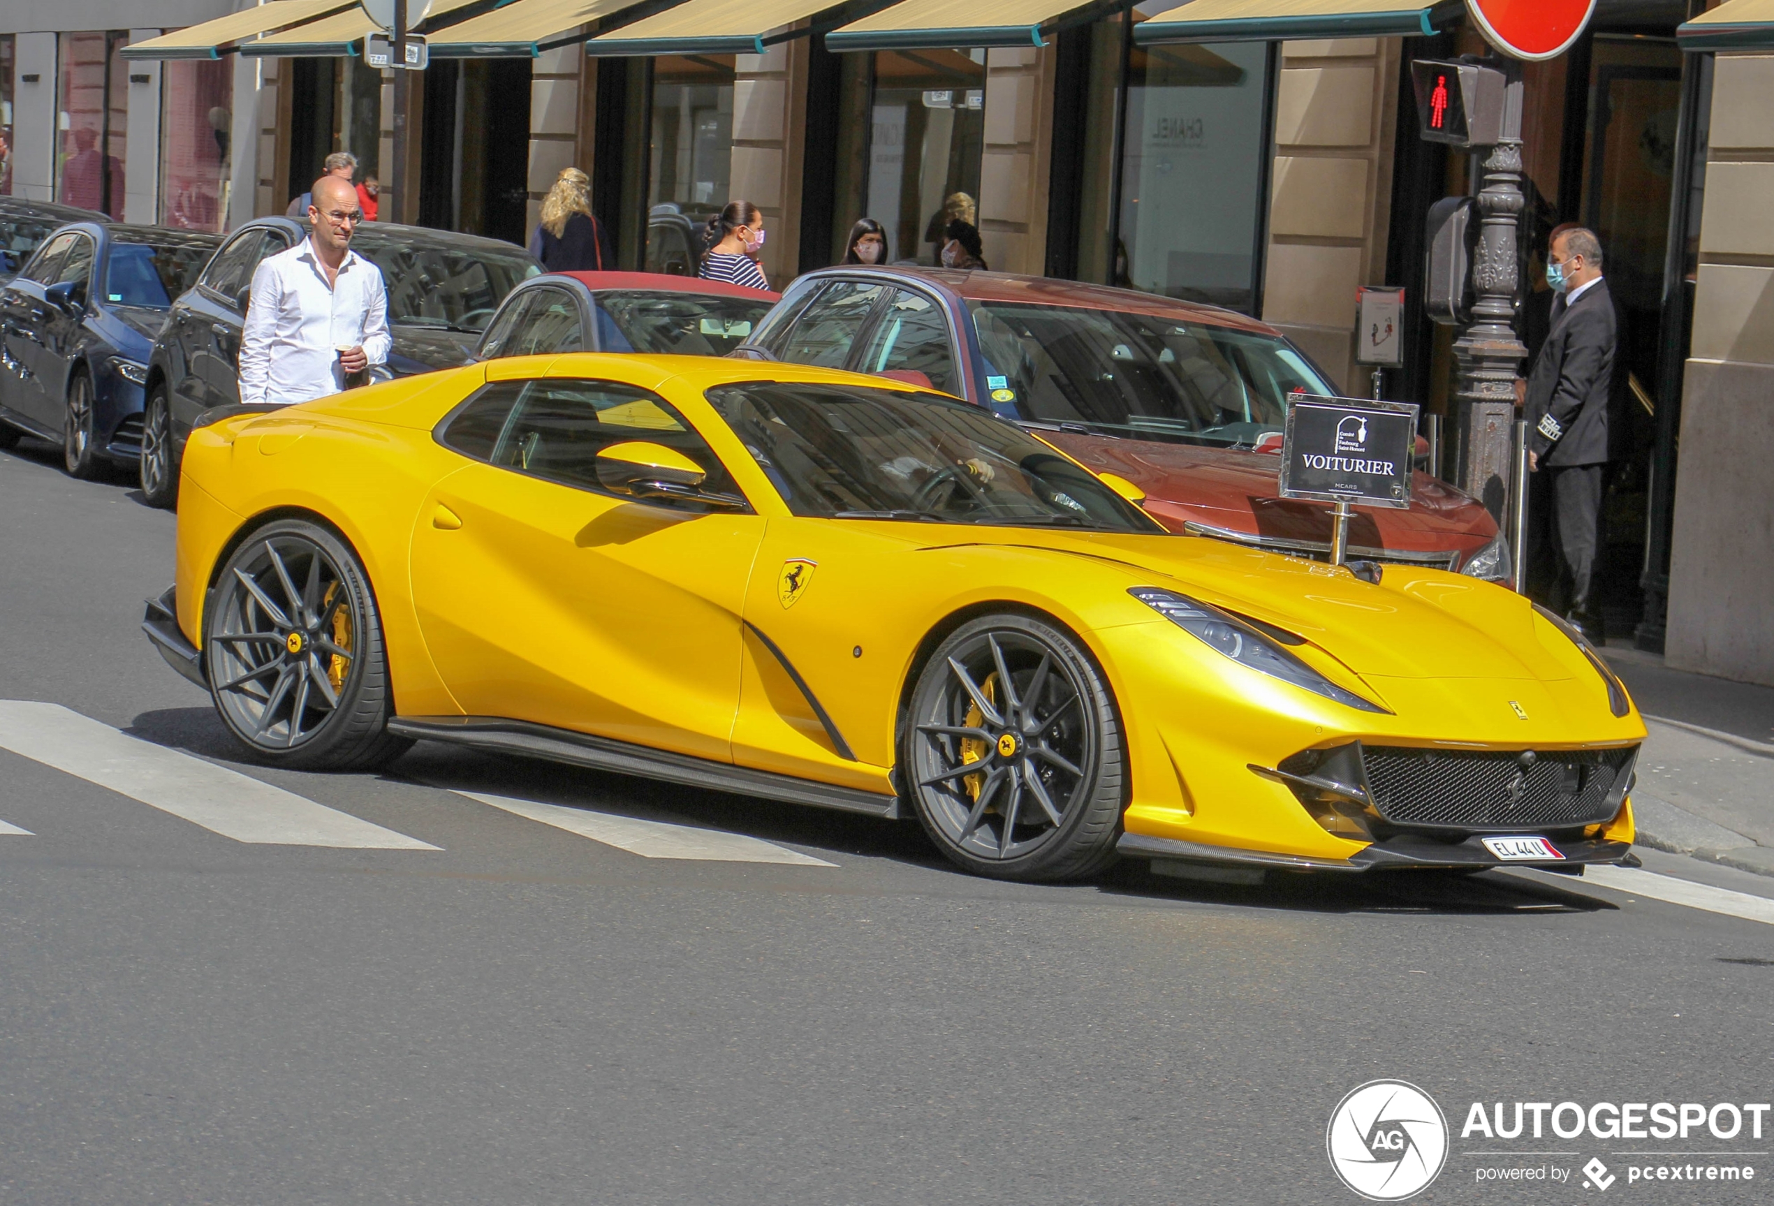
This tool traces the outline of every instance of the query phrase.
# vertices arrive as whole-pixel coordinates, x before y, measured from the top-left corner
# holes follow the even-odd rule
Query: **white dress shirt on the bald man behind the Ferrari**
[[[389,358],[389,294],[381,270],[346,250],[337,282],[314,239],[279,252],[252,273],[252,302],[239,339],[239,401],[287,406],[344,388],[339,348],[364,348],[371,364]]]

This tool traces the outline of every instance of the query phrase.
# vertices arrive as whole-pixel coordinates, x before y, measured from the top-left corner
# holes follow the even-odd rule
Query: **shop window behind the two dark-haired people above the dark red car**
[[[979,225],[985,98],[983,50],[875,55],[864,211],[887,227],[891,262],[937,264],[949,218]]]

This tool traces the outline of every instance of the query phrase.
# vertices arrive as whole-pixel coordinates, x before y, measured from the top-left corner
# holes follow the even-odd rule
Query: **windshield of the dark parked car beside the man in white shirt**
[[[541,273],[513,247],[426,247],[357,238],[351,250],[381,270],[389,287],[389,323],[479,335],[520,280]]]

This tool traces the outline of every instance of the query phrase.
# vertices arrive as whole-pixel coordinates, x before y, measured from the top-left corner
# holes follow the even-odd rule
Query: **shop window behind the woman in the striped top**
[[[653,60],[646,270],[694,277],[733,181],[733,55]]]

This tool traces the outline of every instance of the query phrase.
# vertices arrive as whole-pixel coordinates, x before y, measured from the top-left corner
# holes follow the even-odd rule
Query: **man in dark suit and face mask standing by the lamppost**
[[[1527,466],[1550,477],[1552,550],[1566,615],[1600,642],[1595,559],[1607,486],[1607,410],[1614,378],[1614,303],[1602,280],[1602,245],[1575,227],[1552,239],[1547,284],[1552,325],[1527,374]]]

